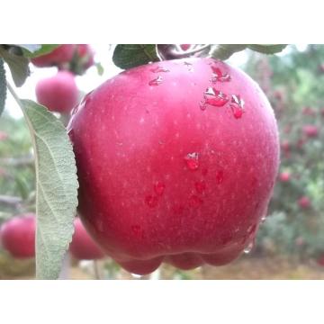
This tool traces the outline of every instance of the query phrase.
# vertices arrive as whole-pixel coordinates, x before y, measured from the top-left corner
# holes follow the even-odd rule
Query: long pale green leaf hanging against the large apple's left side
[[[74,231],[76,161],[63,124],[40,104],[14,96],[31,131],[35,155],[36,276],[57,279]]]

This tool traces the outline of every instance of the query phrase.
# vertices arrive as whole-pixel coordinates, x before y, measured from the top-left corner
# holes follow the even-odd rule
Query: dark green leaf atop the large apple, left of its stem
[[[127,69],[158,61],[156,45],[120,44],[113,51],[112,61],[117,67]]]

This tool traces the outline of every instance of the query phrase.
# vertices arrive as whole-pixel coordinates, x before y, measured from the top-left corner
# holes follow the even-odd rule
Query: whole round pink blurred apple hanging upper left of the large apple
[[[56,76],[41,79],[36,85],[36,97],[51,112],[70,112],[78,103],[75,76],[68,71],[58,71]]]

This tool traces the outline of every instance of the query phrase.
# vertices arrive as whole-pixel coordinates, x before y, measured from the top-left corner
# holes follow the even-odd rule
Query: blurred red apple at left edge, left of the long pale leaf
[[[0,229],[1,245],[13,257],[35,257],[35,215],[18,215],[5,221]]]

